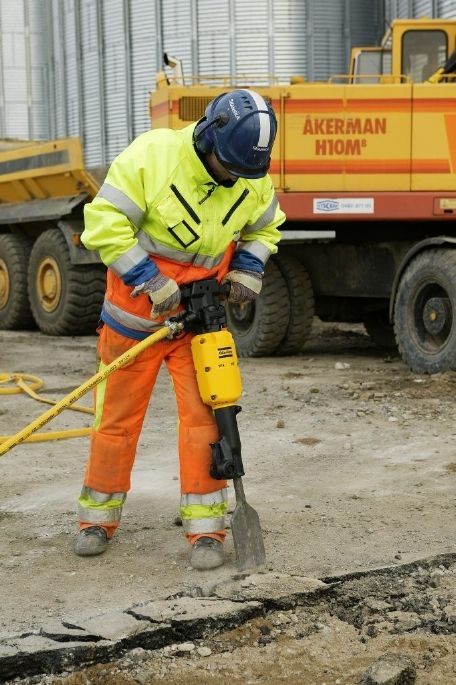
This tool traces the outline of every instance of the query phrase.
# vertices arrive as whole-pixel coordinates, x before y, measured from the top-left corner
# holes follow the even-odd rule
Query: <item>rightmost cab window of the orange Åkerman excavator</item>
[[[445,64],[448,39],[445,31],[406,31],[402,36],[402,73],[423,83]]]

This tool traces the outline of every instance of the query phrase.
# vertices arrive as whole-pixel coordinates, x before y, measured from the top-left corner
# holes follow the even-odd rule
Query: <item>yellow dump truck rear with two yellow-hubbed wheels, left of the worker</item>
[[[0,141],[0,329],[95,330],[106,274],[80,234],[98,188],[77,138]]]

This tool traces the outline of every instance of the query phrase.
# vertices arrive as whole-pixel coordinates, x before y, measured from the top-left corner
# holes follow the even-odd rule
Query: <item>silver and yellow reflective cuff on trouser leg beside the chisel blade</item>
[[[226,488],[206,495],[188,493],[181,497],[180,513],[186,533],[215,533],[223,530],[227,510]]]

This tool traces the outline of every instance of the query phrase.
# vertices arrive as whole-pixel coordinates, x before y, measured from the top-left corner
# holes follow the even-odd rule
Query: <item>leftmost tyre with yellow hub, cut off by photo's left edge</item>
[[[27,268],[32,241],[0,235],[0,329],[35,328],[27,295]]]

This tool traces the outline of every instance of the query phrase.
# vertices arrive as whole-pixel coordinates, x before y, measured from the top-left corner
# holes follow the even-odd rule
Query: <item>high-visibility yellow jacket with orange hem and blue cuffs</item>
[[[285,221],[269,176],[218,185],[193,147],[192,124],[142,134],[112,163],[85,206],[81,239],[108,266],[105,323],[141,339],[157,327],[134,286],[158,273],[179,284],[262,271]]]

